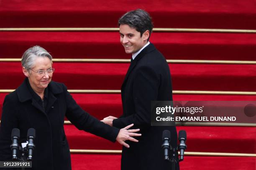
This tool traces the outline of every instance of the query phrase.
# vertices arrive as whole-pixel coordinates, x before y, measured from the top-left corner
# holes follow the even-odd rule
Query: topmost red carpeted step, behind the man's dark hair
[[[2,0],[0,23],[3,28],[117,27],[121,15],[137,8],[147,10],[158,28],[256,29],[251,0]]]

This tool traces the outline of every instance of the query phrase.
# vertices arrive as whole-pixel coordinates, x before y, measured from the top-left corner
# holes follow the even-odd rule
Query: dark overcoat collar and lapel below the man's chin
[[[141,58],[146,55],[147,53],[151,52],[151,51],[154,51],[156,50],[156,47],[150,43],[148,46],[146,46],[136,57],[133,61],[131,61],[131,65],[130,67],[128,68],[128,71],[125,75],[125,79],[123,80],[123,84],[122,84],[122,88],[123,88],[123,85],[125,84],[126,80],[128,79],[129,77],[129,74],[131,73],[131,71],[133,70],[133,68],[135,67],[136,63],[141,60]]]

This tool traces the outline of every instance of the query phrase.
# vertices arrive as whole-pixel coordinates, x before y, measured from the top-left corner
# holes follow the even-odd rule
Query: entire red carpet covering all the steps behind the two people
[[[118,28],[128,10],[147,10],[155,28],[216,28],[256,30],[255,0],[0,0],[0,28]],[[5,32],[0,31],[0,58],[20,58],[33,45],[54,58],[129,59],[115,32]],[[150,42],[166,59],[256,61],[256,34],[154,32]],[[69,90],[120,90],[129,63],[54,62],[53,80]],[[169,64],[173,90],[256,92],[256,65]],[[0,62],[0,90],[23,82],[20,62]],[[7,93],[0,93],[0,115]],[[91,115],[120,116],[120,94],[72,94]],[[254,101],[256,95],[180,95],[174,100]],[[254,117],[253,117],[254,118]],[[90,133],[64,125],[71,149],[120,150]],[[187,151],[256,153],[256,127],[178,126],[187,131]],[[160,148],[161,146],[159,146]],[[73,154],[73,170],[120,170],[120,154]],[[256,157],[188,156],[181,170],[256,170]]]

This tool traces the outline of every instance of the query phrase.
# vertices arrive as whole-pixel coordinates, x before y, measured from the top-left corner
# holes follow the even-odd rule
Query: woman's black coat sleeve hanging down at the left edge
[[[12,101],[9,95],[6,95],[3,102],[0,124],[0,161],[11,160],[11,132],[13,128],[18,128],[17,114],[18,112],[16,110],[15,103]]]

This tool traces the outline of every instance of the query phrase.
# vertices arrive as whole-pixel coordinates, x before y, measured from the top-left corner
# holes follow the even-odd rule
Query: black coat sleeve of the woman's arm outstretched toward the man
[[[72,122],[72,124],[74,124],[79,130],[84,130],[115,142],[120,129],[111,127],[82,110],[82,108],[77,105],[77,102],[67,91],[67,87],[65,85],[63,86],[67,104],[66,117],[68,120]]]

